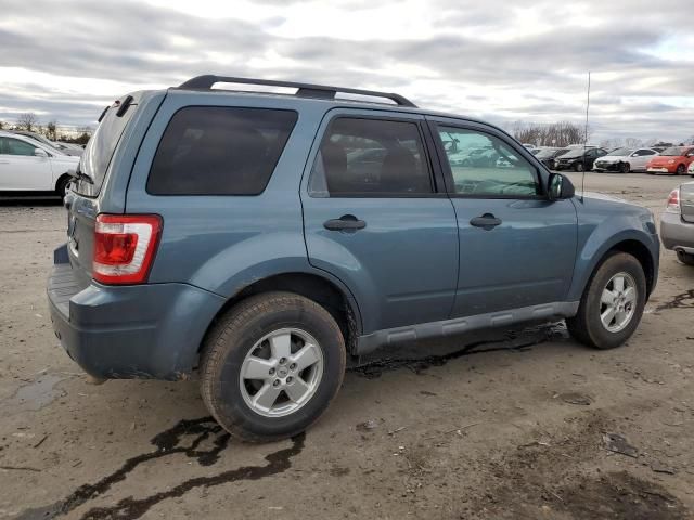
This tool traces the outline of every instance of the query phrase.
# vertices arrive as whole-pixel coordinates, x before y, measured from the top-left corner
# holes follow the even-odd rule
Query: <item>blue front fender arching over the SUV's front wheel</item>
[[[654,265],[654,281],[657,276],[659,242],[655,233],[647,230],[644,213],[619,213],[608,216],[597,212],[579,224],[578,253],[574,281],[568,294],[568,301],[580,300],[591,274],[605,255],[618,249],[620,244],[637,242],[650,252]],[[655,227],[653,229],[655,231]]]

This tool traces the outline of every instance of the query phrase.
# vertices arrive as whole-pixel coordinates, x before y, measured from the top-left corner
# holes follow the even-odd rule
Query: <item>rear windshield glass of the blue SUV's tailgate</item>
[[[85,153],[79,159],[79,171],[88,176],[93,184],[85,179],[78,180],[77,193],[87,197],[99,195],[113,153],[136,109],[137,105],[131,104],[123,116],[116,115],[118,110],[116,105],[106,109],[101,123],[97,127],[97,131],[87,143]]]

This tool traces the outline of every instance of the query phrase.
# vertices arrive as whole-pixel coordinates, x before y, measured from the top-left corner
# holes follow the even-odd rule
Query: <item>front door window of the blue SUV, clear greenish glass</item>
[[[441,141],[455,143],[446,150],[453,191],[479,197],[531,197],[541,193],[536,169],[500,139],[457,128],[439,127]]]

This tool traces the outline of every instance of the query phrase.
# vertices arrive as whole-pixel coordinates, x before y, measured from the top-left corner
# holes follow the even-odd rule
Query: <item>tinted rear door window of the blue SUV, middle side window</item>
[[[327,129],[309,183],[314,197],[416,196],[433,192],[419,126],[339,117]]]

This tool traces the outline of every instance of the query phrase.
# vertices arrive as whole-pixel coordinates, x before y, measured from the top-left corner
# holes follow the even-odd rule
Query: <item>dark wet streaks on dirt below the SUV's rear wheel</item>
[[[190,439],[189,443],[184,443]],[[201,448],[201,444],[211,439],[211,447]],[[153,452],[143,453],[127,459],[120,468],[102,478],[93,484],[83,484],[62,500],[49,506],[27,509],[17,520],[49,520],[67,515],[74,509],[98,498],[107,492],[115,483],[127,479],[128,474],[138,466],[150,460],[167,457],[172,454],[182,454],[194,458],[201,466],[211,466],[219,460],[220,453],[229,445],[230,435],[211,417],[200,419],[184,419],[172,428],[163,431],[152,439],[156,446]],[[80,518],[82,520],[97,520],[104,518],[118,518],[131,520],[141,518],[146,511],[162,500],[179,497],[195,487],[211,487],[240,480],[259,480],[264,477],[280,473],[292,466],[292,458],[304,448],[305,435],[301,433],[292,438],[292,445],[284,450],[266,455],[267,465],[243,466],[236,469],[222,471],[208,477],[194,477],[166,491],[154,493],[142,498],[129,496],[118,503],[106,507],[93,507]]]

